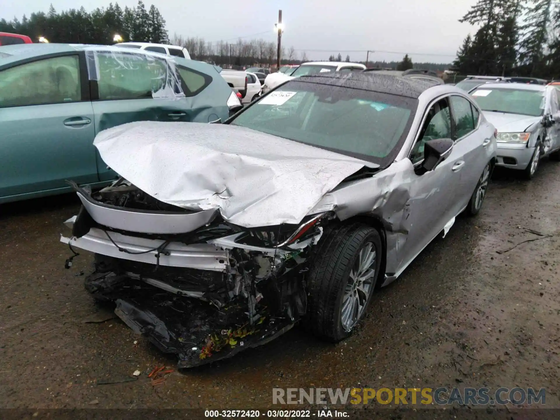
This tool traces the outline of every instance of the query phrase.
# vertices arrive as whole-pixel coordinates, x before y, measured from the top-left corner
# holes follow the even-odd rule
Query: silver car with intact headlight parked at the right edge
[[[498,130],[496,165],[533,178],[540,158],[560,160],[560,92],[553,86],[487,83],[470,94]]]

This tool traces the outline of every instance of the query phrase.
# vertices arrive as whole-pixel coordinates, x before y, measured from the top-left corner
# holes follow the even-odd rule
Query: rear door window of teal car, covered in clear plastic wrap
[[[86,48],[85,52],[88,77],[97,81],[100,99],[103,88],[132,92],[129,99],[148,95],[156,99],[185,97],[172,57],[114,46]]]

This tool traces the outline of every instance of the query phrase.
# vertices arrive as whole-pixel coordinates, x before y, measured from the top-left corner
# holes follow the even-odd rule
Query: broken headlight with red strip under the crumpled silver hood
[[[289,246],[298,241],[309,239],[319,233],[319,224],[330,212],[316,214],[304,219],[301,225],[283,224],[255,228],[237,238],[236,242],[242,245],[265,246],[267,248]]]

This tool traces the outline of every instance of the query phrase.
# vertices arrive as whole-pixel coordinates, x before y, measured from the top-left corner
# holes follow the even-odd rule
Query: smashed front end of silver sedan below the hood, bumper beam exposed
[[[329,213],[306,217],[301,225],[248,229],[219,212],[200,219],[201,212],[162,203],[124,179],[93,194],[72,185],[83,206],[66,222],[72,237],[60,240],[95,253],[86,290],[114,301],[119,318],[161,351],[177,354],[179,367],[264,344],[305,315],[306,261]],[[191,217],[187,224],[194,228],[124,230],[118,222],[102,223],[103,212]]]

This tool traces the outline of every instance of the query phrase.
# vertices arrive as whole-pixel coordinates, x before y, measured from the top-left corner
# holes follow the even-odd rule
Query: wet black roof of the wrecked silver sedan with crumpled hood
[[[408,77],[391,76],[389,74],[376,73],[329,73],[314,76],[300,76],[294,81],[321,83],[323,85],[350,87],[354,89],[380,92],[382,94],[392,94],[406,96],[414,99],[422,92],[433,86],[433,83],[414,80]]]

